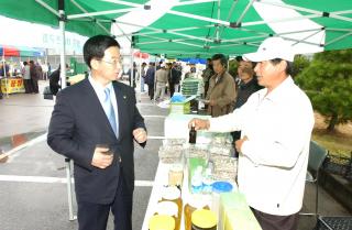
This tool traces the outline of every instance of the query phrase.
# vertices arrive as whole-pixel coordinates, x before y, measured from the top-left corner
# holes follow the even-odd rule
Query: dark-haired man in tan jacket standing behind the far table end
[[[211,61],[215,75],[210,78],[206,99],[209,101],[208,114],[219,117],[233,111],[235,84],[227,72],[228,59],[223,54],[213,55]]]

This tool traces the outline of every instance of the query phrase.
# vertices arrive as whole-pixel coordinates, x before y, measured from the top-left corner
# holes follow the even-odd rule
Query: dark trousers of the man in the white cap
[[[275,216],[251,208],[263,230],[297,230],[299,213]]]

